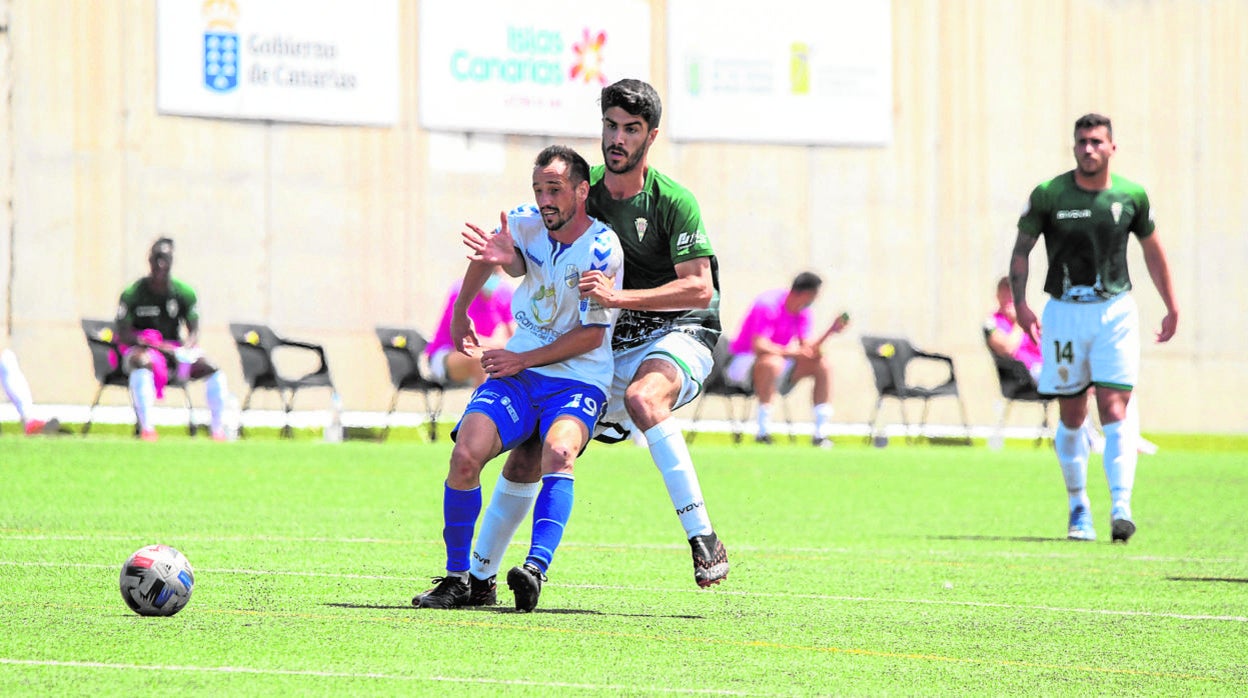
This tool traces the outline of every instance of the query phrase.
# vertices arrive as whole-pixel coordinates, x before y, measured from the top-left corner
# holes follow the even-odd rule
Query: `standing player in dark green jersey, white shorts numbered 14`
[[[1104,430],[1112,539],[1124,543],[1136,532],[1131,492],[1138,432],[1128,410],[1139,375],[1139,312],[1128,293],[1127,273],[1127,241],[1132,235],[1139,241],[1148,275],[1166,305],[1158,342],[1174,336],[1178,305],[1148,195],[1139,185],[1109,172],[1116,149],[1107,116],[1088,114],[1075,122],[1076,167],[1031,192],[1018,219],[1010,285],[1018,325],[1043,353],[1040,392],[1058,397],[1061,423],[1055,446],[1070,498],[1067,537],[1096,539],[1087,496],[1088,445],[1080,437],[1088,410],[1086,392],[1092,387]],[[1028,257],[1041,236],[1048,252],[1045,292],[1050,295],[1042,322],[1026,297]]]

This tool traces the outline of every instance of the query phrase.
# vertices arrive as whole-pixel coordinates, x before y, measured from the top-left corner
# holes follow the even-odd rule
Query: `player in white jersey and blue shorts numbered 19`
[[[473,250],[456,301],[452,337],[472,355],[477,337],[467,308],[493,267],[524,278],[512,296],[515,333],[502,350],[480,355],[488,378],[452,431],[456,440],[443,489],[447,573],[412,599],[418,608],[459,608],[495,601],[494,576],[469,574],[469,547],[482,511],[480,472],[492,458],[537,436],[542,442],[540,491],[523,566],[507,574],[518,611],[533,611],[563,537],[573,503],[573,466],[594,433],[614,375],[612,326],[619,313],[582,298],[582,273],[598,271],[623,286],[623,252],[615,233],[585,212],[589,165],[574,150],[550,146],[533,169],[537,207],[504,214],[490,233],[469,225]],[[524,499],[528,507],[529,498]],[[485,511],[507,506],[495,496]],[[509,517],[503,517],[509,518]],[[514,532],[514,531],[513,531]],[[510,534],[507,536],[510,539]],[[505,549],[505,546],[504,546]],[[478,562],[493,564],[504,549]]]

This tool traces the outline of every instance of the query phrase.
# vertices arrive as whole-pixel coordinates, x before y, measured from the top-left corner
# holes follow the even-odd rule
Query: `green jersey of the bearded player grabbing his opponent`
[[[603,181],[607,169],[589,171],[589,215],[602,220],[619,236],[624,248],[624,287],[656,288],[676,280],[676,265],[710,257],[714,295],[704,310],[671,312],[620,312],[612,345],[615,351],[631,348],[671,331],[689,332],[708,348],[719,338],[719,262],[703,226],[701,209],[689,190],[649,167],[636,196],[612,199]]]

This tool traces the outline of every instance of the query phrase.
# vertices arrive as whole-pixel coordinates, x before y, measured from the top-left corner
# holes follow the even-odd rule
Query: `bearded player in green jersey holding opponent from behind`
[[[701,391],[719,337],[719,267],[698,200],[648,162],[663,105],[640,80],[603,89],[603,166],[590,172],[589,215],[603,220],[624,247],[624,288],[597,272],[580,278],[582,297],[620,308],[612,348],[615,378],[600,421],[630,423],[645,436],[693,552],[694,581],[709,587],[728,577],[728,552],[706,513],[684,435],[671,412]],[[626,436],[625,427],[618,432]],[[482,522],[469,573],[482,583],[537,496],[540,442],[508,455]]]

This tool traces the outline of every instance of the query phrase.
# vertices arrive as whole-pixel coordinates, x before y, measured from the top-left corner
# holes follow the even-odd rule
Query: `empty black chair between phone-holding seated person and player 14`
[[[922,400],[924,411],[919,420],[919,437],[924,437],[927,427],[929,403],[936,397],[952,397],[957,401],[958,411],[962,416],[962,427],[966,430],[966,443],[971,443],[971,425],[966,416],[966,405],[957,391],[957,376],[953,372],[953,360],[943,353],[934,353],[916,348],[909,340],[901,337],[862,337],[862,350],[875,376],[875,410],[871,412],[871,421],[867,425],[867,441],[874,441],[877,435],[877,421],[880,406],[885,398],[894,398],[901,411],[901,423],[906,428],[906,442],[911,441],[910,421],[906,418],[906,401]],[[911,382],[907,371],[912,362],[926,362],[940,365],[942,378],[934,382]],[[929,437],[930,440],[930,437]]]

